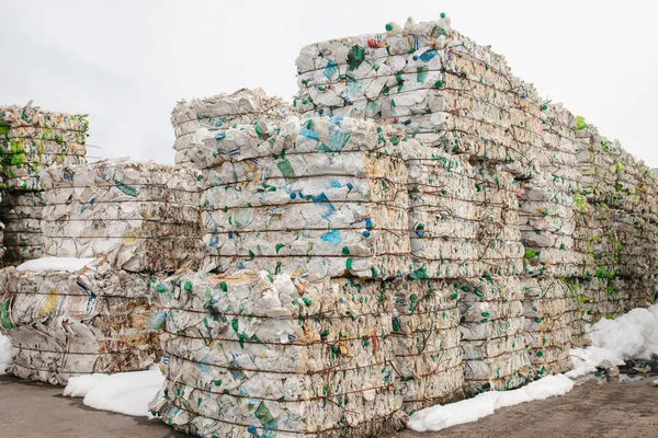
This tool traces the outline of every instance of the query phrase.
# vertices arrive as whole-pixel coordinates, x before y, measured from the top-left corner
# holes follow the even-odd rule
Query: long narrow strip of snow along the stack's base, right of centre
[[[446,427],[476,422],[501,407],[564,395],[574,381],[564,374],[547,376],[512,391],[483,392],[457,403],[435,405],[411,415],[407,427],[416,431],[436,431]]]

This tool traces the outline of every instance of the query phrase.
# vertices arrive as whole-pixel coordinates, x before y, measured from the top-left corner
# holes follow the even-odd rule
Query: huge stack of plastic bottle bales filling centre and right
[[[388,420],[566,371],[589,323],[653,299],[656,176],[444,14],[306,46],[296,65],[293,108],[239,90],[172,113],[177,165],[203,173],[202,272],[222,274],[154,286],[171,355],[151,406],[169,424],[201,436],[373,433],[361,410],[386,410],[362,394],[368,377],[344,373],[358,402],[342,415],[347,399],[327,402],[337,392],[295,399],[319,392],[261,380],[287,376],[293,357],[319,372],[308,353],[274,364],[270,351],[315,339],[329,368],[332,355],[368,367],[388,357]],[[316,328],[313,293],[336,285],[333,303],[377,297],[376,312],[358,312],[376,354],[374,338],[325,345],[343,325]],[[291,318],[290,330],[272,320]],[[252,402],[236,403],[238,388]]]

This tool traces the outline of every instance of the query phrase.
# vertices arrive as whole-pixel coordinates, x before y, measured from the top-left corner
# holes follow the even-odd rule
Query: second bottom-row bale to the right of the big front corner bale
[[[462,348],[467,394],[502,391],[532,376],[518,277],[456,279],[462,290]]]

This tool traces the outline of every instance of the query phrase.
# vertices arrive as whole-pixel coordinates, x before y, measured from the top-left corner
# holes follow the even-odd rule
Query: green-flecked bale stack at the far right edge
[[[591,211],[583,220],[589,222],[582,228],[587,232],[581,232],[590,235],[592,269],[591,276],[578,279],[580,314],[595,323],[654,302],[658,180],[582,117],[575,125],[581,204],[589,204]]]

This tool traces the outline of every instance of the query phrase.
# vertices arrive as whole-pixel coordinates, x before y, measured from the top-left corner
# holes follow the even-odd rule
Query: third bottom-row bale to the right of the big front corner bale
[[[571,369],[574,322],[579,318],[579,297],[561,278],[523,279],[525,343],[537,377]]]

